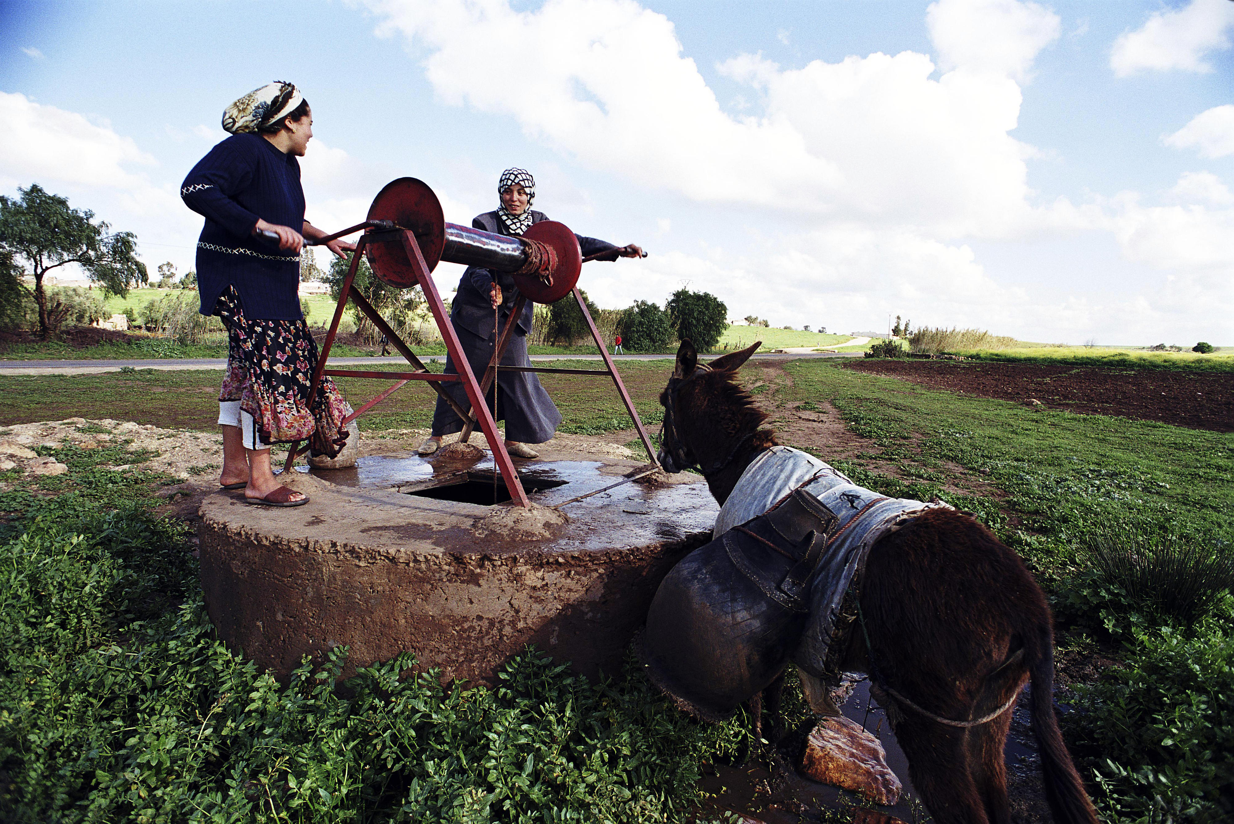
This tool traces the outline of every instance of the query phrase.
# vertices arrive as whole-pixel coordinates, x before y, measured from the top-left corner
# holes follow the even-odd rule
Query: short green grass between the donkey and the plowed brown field
[[[828,401],[869,438],[866,459],[837,461],[854,480],[917,500],[970,491],[958,503],[982,513],[1045,579],[1074,571],[1076,548],[1111,521],[1234,544],[1234,434],[906,389],[834,361],[786,370],[793,385],[777,396]],[[911,480],[871,471],[886,461]]]

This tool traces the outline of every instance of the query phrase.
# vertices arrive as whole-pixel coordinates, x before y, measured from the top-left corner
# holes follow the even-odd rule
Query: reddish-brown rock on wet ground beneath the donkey
[[[882,805],[900,801],[903,789],[887,766],[887,752],[879,739],[843,715],[824,718],[810,734],[801,771],[814,781],[861,793]]]

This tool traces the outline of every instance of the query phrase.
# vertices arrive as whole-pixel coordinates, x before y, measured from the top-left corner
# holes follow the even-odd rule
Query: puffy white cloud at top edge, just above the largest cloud
[[[926,23],[944,72],[990,72],[1019,83],[1060,31],[1056,14],[1016,0],[939,0],[927,9]]]

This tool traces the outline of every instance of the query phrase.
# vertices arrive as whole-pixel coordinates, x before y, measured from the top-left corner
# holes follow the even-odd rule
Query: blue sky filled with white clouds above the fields
[[[649,252],[584,266],[601,307],[1234,345],[1232,0],[0,0],[0,194],[191,269],[180,183],[275,79],[312,105],[313,225],[400,176],[468,225],[526,168]]]

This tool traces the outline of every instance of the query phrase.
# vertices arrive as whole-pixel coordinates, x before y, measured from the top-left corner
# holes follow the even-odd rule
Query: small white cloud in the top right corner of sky
[[[1234,27],[1234,2],[1191,0],[1183,9],[1154,12],[1143,26],[1120,35],[1111,51],[1109,65],[1119,78],[1143,69],[1212,72],[1206,57],[1230,47],[1230,27]]]

